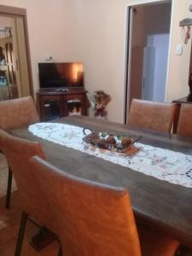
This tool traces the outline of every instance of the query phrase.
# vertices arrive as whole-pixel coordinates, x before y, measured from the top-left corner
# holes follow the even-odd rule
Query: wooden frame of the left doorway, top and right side
[[[20,17],[23,19],[25,44],[26,44],[27,71],[29,76],[29,90],[30,90],[31,96],[34,99],[34,90],[33,90],[33,82],[32,82],[32,61],[31,61],[30,48],[29,48],[29,35],[28,35],[26,9],[0,4],[0,15],[6,16],[6,17],[12,17],[12,18]]]

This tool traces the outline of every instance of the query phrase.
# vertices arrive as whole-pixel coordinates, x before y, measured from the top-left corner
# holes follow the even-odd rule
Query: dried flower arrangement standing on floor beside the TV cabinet
[[[95,109],[95,116],[104,119],[107,116],[106,107],[111,101],[111,96],[106,94],[103,90],[96,90],[91,97],[93,108]]]

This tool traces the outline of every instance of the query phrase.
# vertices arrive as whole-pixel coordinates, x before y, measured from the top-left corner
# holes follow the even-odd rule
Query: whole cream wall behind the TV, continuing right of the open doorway
[[[125,44],[127,5],[154,0],[0,0],[26,8],[34,88],[38,88],[38,61],[84,61],[86,89],[102,89],[112,96],[108,119],[123,122],[125,101]],[[188,92],[190,42],[175,56],[181,42],[178,21],[189,13],[191,0],[173,0],[173,22],[167,100]]]

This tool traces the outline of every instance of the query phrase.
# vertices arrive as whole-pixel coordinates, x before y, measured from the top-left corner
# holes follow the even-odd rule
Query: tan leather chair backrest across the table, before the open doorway
[[[176,111],[177,105],[174,103],[133,99],[128,124],[156,131],[171,132]]]

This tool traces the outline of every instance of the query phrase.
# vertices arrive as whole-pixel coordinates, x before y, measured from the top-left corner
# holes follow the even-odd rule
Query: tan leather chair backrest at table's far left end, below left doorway
[[[5,131],[25,127],[38,120],[32,96],[0,102],[0,128]]]

